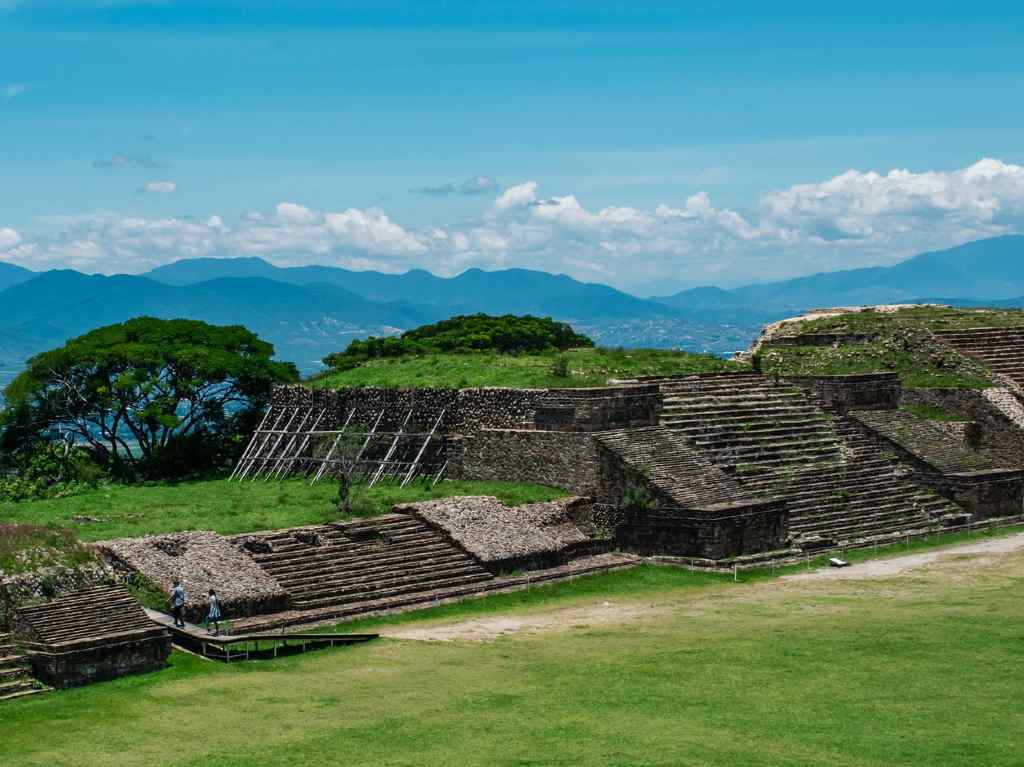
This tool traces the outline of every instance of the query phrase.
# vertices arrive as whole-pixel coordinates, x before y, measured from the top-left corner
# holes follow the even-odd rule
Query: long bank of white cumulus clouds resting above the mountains
[[[189,256],[260,255],[395,271],[524,266],[631,284],[736,284],[894,263],[914,253],[1024,230],[1024,168],[984,159],[953,171],[847,171],[766,191],[750,211],[691,190],[653,208],[588,207],[506,188],[475,219],[411,228],[380,208],[314,210],[282,202],[226,222],[189,218],[54,219],[33,239],[0,229],[3,258],[27,266],[143,271]]]

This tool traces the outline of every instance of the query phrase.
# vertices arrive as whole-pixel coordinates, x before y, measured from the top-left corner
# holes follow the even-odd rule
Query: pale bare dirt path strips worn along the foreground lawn
[[[926,567],[944,558],[971,560],[972,565],[985,565],[999,556],[1024,549],[1024,532],[1005,538],[969,542],[934,551],[926,551],[886,559],[858,562],[849,567],[824,567],[783,576],[770,584],[773,590],[798,588],[808,582],[859,581],[874,578],[892,578],[911,569]],[[428,642],[489,642],[511,634],[537,634],[551,631],[566,631],[580,628],[594,628],[611,624],[632,623],[647,620],[678,607],[671,601],[650,602],[642,600],[604,601],[580,607],[562,607],[537,612],[484,615],[481,617],[451,623],[395,627],[381,633],[391,639],[410,639]]]

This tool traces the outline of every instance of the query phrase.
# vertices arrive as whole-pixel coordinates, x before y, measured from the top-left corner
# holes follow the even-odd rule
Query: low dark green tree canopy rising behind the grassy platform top
[[[520,354],[565,351],[593,346],[587,336],[567,323],[529,314],[464,314],[433,325],[424,325],[401,336],[352,341],[345,351],[324,358],[330,368],[344,369],[376,357],[425,354],[438,351],[500,351]]]

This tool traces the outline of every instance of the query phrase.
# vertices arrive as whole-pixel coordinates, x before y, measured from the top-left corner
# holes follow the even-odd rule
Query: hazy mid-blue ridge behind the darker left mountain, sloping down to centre
[[[260,258],[194,258],[160,266],[145,276],[177,286],[222,276],[258,276],[292,285],[329,283],[371,301],[426,304],[443,307],[446,313],[532,313],[579,322],[674,315],[658,302],[605,285],[531,269],[468,269],[455,278],[439,278],[423,269],[385,274],[331,266],[279,267]]]

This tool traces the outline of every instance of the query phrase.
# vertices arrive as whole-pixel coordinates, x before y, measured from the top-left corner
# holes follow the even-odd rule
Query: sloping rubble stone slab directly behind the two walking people
[[[138,572],[168,596],[175,579],[185,587],[184,613],[202,621],[214,589],[226,619],[288,609],[289,595],[246,553],[216,532],[173,532],[96,544],[101,556],[126,577]]]

